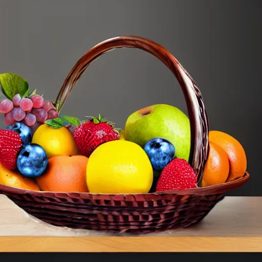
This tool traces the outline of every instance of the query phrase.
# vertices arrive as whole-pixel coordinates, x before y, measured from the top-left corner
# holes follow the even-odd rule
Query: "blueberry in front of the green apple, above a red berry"
[[[155,170],[162,170],[171,162],[176,151],[173,144],[163,138],[153,138],[149,140],[145,144],[144,150]]]

